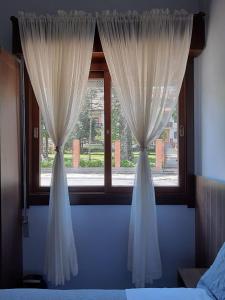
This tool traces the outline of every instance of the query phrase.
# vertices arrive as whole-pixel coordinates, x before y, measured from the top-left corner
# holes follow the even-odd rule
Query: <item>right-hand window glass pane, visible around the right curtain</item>
[[[112,185],[132,186],[139,147],[121,112],[119,100],[112,87]],[[178,186],[178,110],[161,136],[149,148],[148,157],[155,186]]]

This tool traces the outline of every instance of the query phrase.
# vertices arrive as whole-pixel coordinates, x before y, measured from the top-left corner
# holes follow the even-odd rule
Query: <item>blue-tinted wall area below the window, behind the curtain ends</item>
[[[178,267],[194,266],[194,209],[158,206],[163,278],[155,286],[175,286]],[[131,287],[127,271],[130,206],[73,206],[79,274],[64,288]],[[43,273],[47,207],[31,207],[30,236],[24,238],[24,271]]]

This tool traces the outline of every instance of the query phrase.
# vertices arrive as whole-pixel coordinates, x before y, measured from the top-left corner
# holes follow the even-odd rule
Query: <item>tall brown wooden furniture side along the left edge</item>
[[[17,287],[22,278],[19,63],[0,50],[0,286]]]

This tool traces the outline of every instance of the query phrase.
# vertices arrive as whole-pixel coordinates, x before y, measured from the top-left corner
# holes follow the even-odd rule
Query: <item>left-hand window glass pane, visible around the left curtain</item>
[[[54,145],[40,125],[40,185],[51,183]],[[78,124],[64,148],[69,186],[104,185],[104,80],[89,79]]]

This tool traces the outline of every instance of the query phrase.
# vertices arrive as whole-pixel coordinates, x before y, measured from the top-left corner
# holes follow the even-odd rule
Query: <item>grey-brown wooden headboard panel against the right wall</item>
[[[225,182],[197,177],[196,265],[209,267],[225,241]]]

